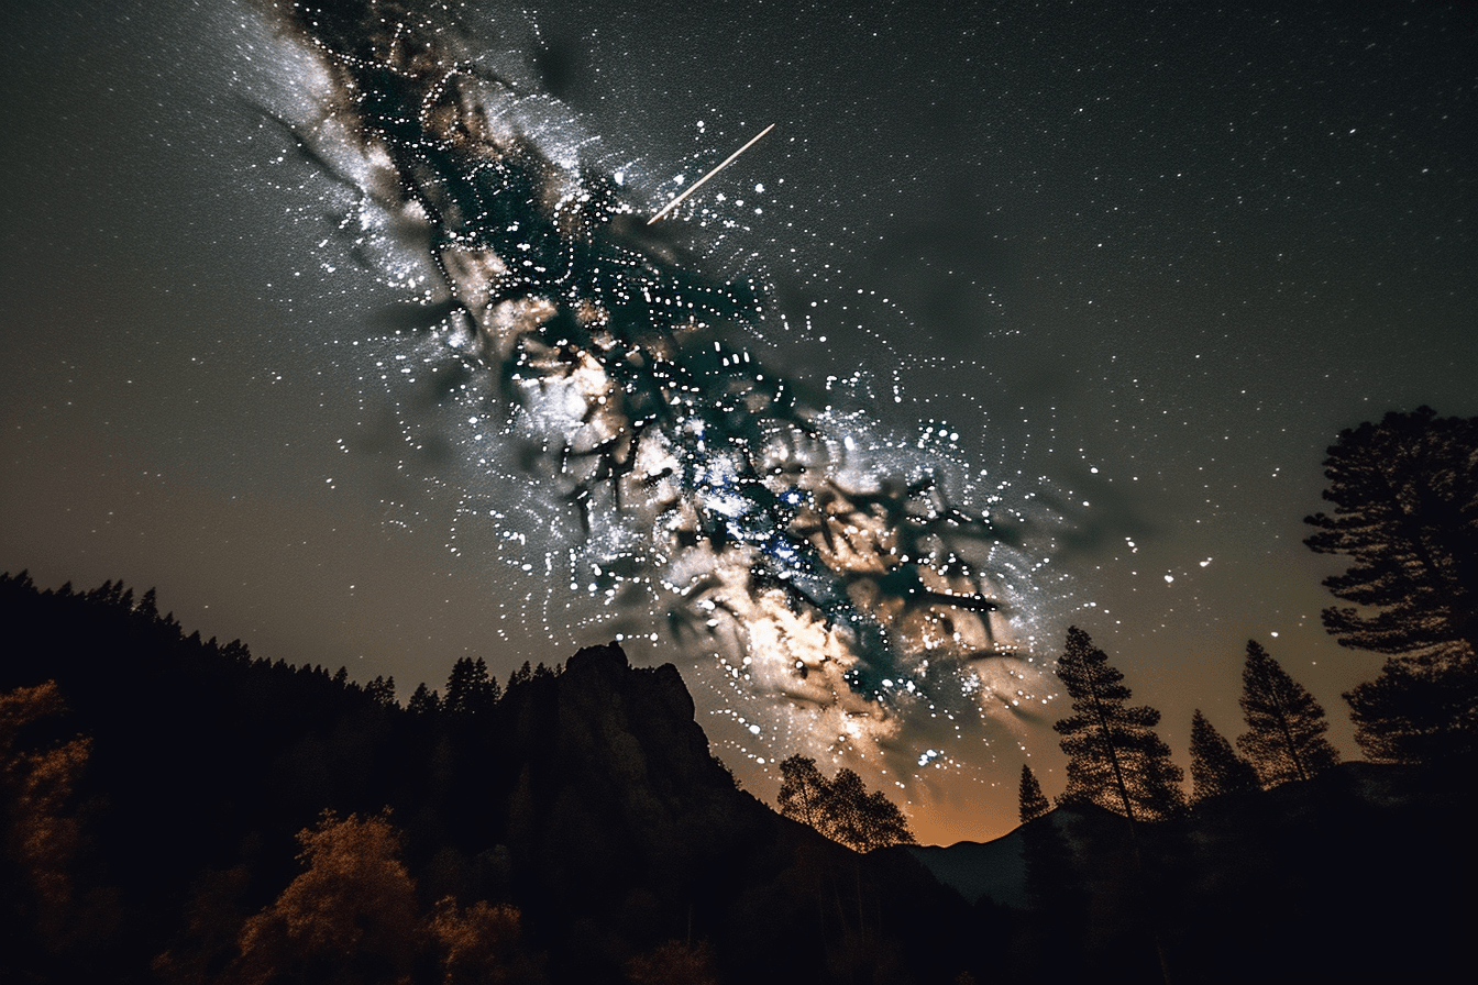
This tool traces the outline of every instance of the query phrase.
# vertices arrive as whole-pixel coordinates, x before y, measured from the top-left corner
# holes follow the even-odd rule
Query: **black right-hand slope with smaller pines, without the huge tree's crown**
[[[1057,809],[1027,765],[1018,787],[1023,978],[1443,981],[1468,960],[1465,761],[1339,763],[1324,710],[1249,641],[1246,731],[1196,712],[1187,796],[1159,712],[1077,628],[1058,675],[1067,786]]]

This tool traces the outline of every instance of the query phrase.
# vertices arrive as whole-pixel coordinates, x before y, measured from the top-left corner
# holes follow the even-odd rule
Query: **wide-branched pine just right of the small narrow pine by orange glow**
[[[1077,626],[1057,662],[1057,676],[1073,699],[1073,712],[1052,728],[1067,753],[1067,790],[1060,803],[1097,803],[1131,821],[1179,814],[1185,805],[1184,774],[1171,762],[1169,746],[1154,732],[1160,713],[1128,707],[1123,673]]]

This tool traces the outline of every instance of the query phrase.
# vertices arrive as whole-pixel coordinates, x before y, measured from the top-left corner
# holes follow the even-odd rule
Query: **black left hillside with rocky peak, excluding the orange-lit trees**
[[[86,944],[37,938],[0,967],[149,981],[170,951],[226,973],[234,927],[302,870],[299,831],[386,808],[420,907],[511,904],[548,981],[627,981],[670,942],[701,947],[718,981],[953,981],[983,963],[974,908],[912,858],[856,855],[739,790],[675,667],[631,667],[615,644],[514,675],[479,713],[412,712],[343,672],[186,636],[121,585],[6,577],[0,619],[0,691],[55,681],[67,707],[27,743],[90,741],[67,868],[112,901]]]

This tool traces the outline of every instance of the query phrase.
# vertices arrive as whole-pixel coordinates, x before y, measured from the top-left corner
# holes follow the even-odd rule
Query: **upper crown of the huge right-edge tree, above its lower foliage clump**
[[[1344,647],[1445,660],[1478,654],[1478,418],[1431,408],[1386,413],[1339,433],[1329,447],[1324,499],[1335,514],[1304,543],[1346,554],[1348,572],[1324,586],[1357,608],[1324,610]]]

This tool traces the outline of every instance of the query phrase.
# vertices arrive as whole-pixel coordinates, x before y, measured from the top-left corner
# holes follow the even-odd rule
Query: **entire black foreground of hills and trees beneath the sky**
[[[619,645],[500,684],[253,659],[108,582],[0,577],[0,979],[67,982],[1438,981],[1468,964],[1478,421],[1341,434],[1315,551],[1366,762],[1247,642],[1244,731],[1190,789],[1125,675],[1067,632],[1054,806],[912,846],[851,771],[715,759],[677,669]],[[1227,722],[1222,722],[1225,727]],[[1014,867],[1014,870],[1012,870]],[[1015,871],[1015,877],[1002,873]],[[1014,879],[1014,882],[1012,882]],[[995,886],[992,892],[981,885]]]

